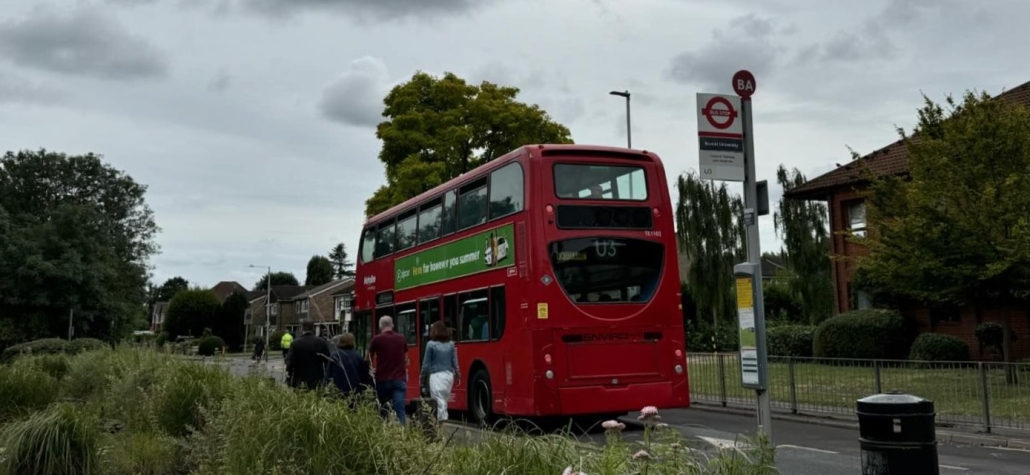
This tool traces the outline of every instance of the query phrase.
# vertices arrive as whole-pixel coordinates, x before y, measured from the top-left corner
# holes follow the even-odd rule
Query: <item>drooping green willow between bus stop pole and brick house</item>
[[[776,176],[784,192],[805,182],[798,169],[787,171],[783,165],[777,169]],[[782,199],[774,220],[777,235],[783,237],[788,286],[801,302],[803,315],[799,316],[817,325],[833,311],[826,205]]]

